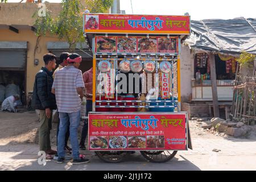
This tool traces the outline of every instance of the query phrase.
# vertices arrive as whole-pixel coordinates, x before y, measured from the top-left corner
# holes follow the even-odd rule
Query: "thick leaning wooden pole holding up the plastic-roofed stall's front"
[[[220,117],[220,111],[218,110],[218,93],[217,93],[215,57],[212,53],[210,53],[210,78],[212,80],[212,100],[213,100],[214,117]]]

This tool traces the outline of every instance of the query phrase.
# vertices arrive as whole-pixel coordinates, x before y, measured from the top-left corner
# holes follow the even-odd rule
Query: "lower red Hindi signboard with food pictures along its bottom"
[[[187,150],[186,113],[89,113],[89,150]]]

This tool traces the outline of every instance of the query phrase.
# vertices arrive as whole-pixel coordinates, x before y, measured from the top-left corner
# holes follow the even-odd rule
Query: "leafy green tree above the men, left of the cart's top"
[[[56,19],[52,18],[49,11],[46,11],[45,17],[39,16],[36,11],[36,35],[45,36],[46,32],[51,32],[69,43],[69,51],[74,50],[77,43],[85,41],[82,32],[82,12],[88,9],[91,13],[106,13],[113,0],[85,0],[85,3],[84,8],[80,0],[63,0],[62,10]]]

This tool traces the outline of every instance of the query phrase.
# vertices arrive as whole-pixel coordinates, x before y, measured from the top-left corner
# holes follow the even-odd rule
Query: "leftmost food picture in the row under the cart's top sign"
[[[115,52],[115,38],[97,37],[97,52]]]

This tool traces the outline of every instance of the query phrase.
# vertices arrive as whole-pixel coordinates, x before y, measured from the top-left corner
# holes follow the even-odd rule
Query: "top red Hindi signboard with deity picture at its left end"
[[[190,16],[84,14],[84,32],[189,35]]]

